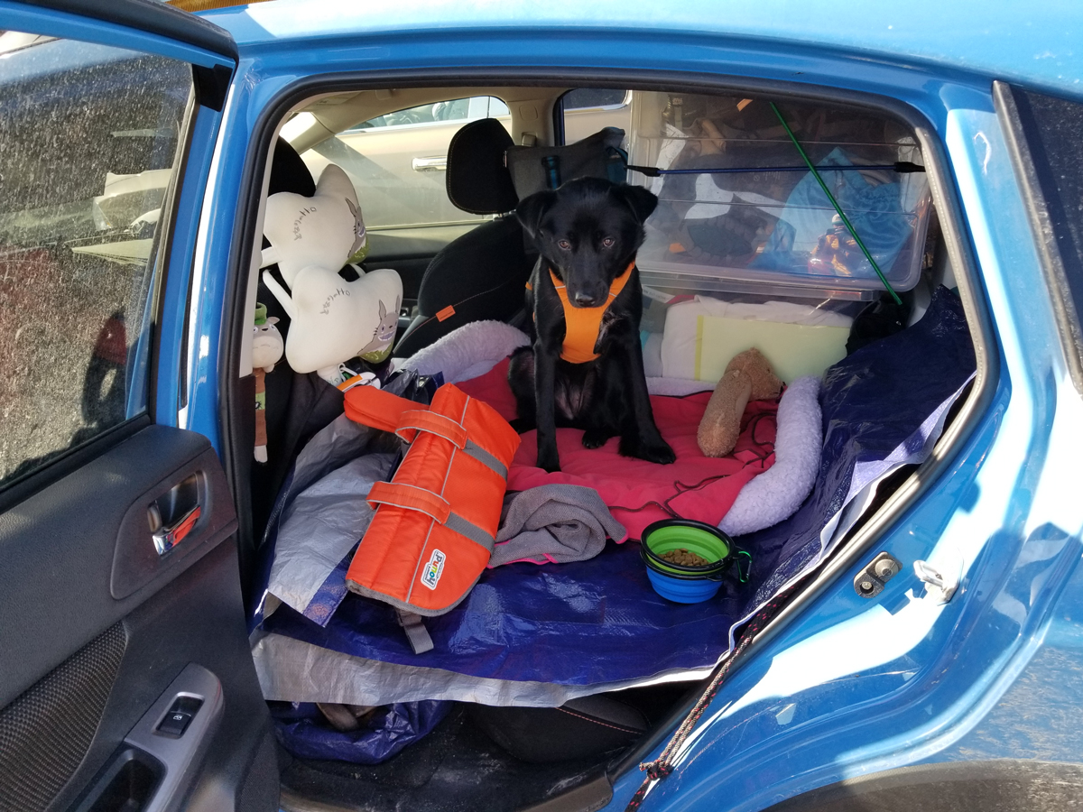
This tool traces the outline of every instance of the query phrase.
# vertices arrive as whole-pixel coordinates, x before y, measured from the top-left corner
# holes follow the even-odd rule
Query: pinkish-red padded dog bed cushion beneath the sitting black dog
[[[485,401],[504,418],[516,417],[507,361],[456,385]],[[709,400],[710,392],[686,397],[651,396],[654,421],[677,454],[677,461],[669,466],[622,457],[617,454],[616,437],[601,448],[588,450],[583,447],[582,431],[558,429],[561,470],[546,473],[535,466],[536,433],[527,432],[508,472],[508,489],[526,490],[554,483],[595,488],[613,516],[628,529],[626,538],[638,539],[647,525],[660,519],[680,516],[717,525],[745,483],[773,464],[774,415],[779,405],[768,401],[749,403],[733,454],[712,458],[703,456],[695,442]]]

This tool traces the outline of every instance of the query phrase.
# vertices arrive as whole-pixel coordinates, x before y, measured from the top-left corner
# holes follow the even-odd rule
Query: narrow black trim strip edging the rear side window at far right
[[[1058,247],[1053,215],[1042,192],[1038,167],[1030,149],[1028,128],[1019,115],[1020,105],[1016,94],[1017,91],[1010,84],[1002,81],[993,82],[996,117],[1004,129],[1004,140],[1007,141],[1016,180],[1019,181],[1022,191],[1023,205],[1027,208],[1031,231],[1034,233],[1034,245],[1042,262],[1045,283],[1052,293],[1053,312],[1057,322],[1057,333],[1065,350],[1065,361],[1075,391],[1083,395],[1083,328],[1075,311],[1071,286],[1068,284],[1068,273]]]

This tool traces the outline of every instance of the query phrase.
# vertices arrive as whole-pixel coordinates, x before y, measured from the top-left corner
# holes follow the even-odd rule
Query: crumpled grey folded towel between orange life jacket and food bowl
[[[511,497],[507,510],[490,567],[516,561],[586,561],[602,551],[606,536],[623,540],[627,535],[598,492],[579,485],[522,490]]]

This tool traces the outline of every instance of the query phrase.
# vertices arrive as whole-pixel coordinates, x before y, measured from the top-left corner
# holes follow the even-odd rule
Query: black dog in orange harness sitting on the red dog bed
[[[585,430],[587,448],[619,436],[626,457],[676,459],[654,424],[639,345],[636,251],[657,201],[639,186],[583,178],[516,209],[540,257],[526,294],[534,345],[512,356],[508,380],[547,471],[560,470],[558,425]]]

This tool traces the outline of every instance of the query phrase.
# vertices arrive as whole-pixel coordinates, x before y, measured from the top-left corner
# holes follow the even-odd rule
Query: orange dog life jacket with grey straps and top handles
[[[374,387],[345,393],[351,420],[409,443],[347,571],[347,587],[401,613],[441,615],[485,569],[519,434],[495,409],[448,383],[426,409]]]

